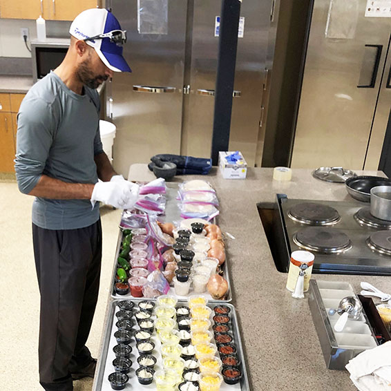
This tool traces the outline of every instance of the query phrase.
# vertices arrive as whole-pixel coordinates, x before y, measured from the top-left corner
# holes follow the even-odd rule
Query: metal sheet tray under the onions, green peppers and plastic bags
[[[175,202],[175,198],[178,192],[178,185],[175,184],[167,184],[167,202],[166,202],[166,215],[162,216],[162,220],[165,221],[179,221],[182,220],[180,218],[180,211],[177,207],[177,204]],[[120,247],[122,243],[122,231],[119,229],[119,234],[118,234],[118,240],[117,240],[117,249],[115,250],[115,258],[114,258],[114,266],[113,266],[113,271],[111,274],[111,297],[116,298],[116,299],[127,299],[127,300],[133,300],[133,299],[140,299],[140,298],[135,298],[132,296],[130,293],[126,295],[119,295],[115,292],[114,285],[115,285],[115,274],[117,271],[117,258],[118,254],[120,254]],[[229,276],[229,269],[227,266],[227,251],[225,254],[225,263],[222,265],[222,273],[224,275],[224,278],[227,280],[228,283],[228,292],[227,295],[225,296],[225,300],[216,300],[211,297],[211,295],[206,292],[204,293],[204,296],[208,298],[208,301],[216,301],[218,303],[229,303],[232,301],[232,294],[231,294],[231,277]],[[193,293],[193,290],[191,289],[189,292],[189,295]],[[180,301],[185,301],[187,300],[187,296],[178,296],[175,295],[175,291],[173,287],[170,287],[169,292],[167,294],[171,294],[178,298]]]

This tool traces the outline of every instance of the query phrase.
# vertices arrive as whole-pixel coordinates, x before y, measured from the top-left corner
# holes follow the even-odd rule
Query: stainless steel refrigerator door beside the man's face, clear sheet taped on
[[[168,5],[168,17],[150,21],[148,15],[137,20],[137,0],[111,1],[127,32],[124,57],[132,68],[130,74],[115,73],[112,83],[113,163],[123,175],[131,164],[149,162],[157,153],[180,153],[187,1],[159,3]]]

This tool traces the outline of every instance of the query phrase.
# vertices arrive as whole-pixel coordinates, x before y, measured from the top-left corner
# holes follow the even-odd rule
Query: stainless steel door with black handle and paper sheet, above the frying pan
[[[314,2],[292,167],[363,169],[391,30],[364,16],[366,3]]]

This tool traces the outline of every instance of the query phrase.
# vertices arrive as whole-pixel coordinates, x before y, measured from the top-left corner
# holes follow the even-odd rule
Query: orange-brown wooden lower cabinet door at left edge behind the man
[[[12,114],[0,112],[0,172],[13,173],[15,159]]]

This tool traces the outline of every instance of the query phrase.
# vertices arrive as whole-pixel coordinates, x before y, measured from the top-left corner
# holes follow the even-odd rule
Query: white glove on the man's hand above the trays
[[[138,188],[137,184],[123,178],[113,182],[99,181],[95,184],[90,201],[93,206],[96,201],[101,201],[118,209],[131,209],[137,201]]]

